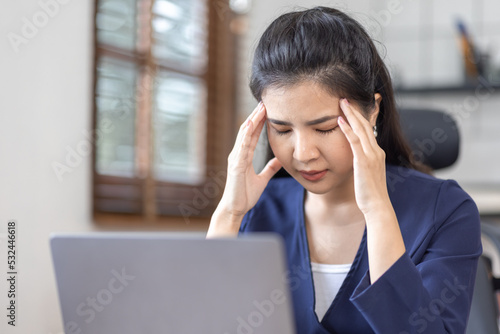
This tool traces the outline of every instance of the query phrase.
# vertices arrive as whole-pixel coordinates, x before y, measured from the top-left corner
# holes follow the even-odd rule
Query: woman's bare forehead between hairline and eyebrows
[[[337,96],[311,81],[293,86],[267,88],[262,94],[262,101],[271,118],[324,116],[338,113],[340,108]]]

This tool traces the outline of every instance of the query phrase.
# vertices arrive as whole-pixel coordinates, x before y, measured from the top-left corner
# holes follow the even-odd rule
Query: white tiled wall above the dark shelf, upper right
[[[457,22],[465,24],[476,48],[500,66],[500,20],[494,0],[376,1],[387,63],[397,84],[455,85],[464,79]]]

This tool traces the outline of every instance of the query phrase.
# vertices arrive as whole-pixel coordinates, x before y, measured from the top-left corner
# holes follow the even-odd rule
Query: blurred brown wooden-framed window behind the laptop
[[[234,135],[225,8],[224,0],[96,1],[96,217],[189,222],[213,212]]]

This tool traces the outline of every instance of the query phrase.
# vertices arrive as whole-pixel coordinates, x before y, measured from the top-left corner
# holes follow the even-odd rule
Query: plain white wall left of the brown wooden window
[[[15,219],[19,234],[15,330],[6,325],[6,247],[0,245],[2,333],[62,332],[48,237],[92,228],[90,156],[62,182],[51,167],[64,163],[67,146],[85,140],[91,122],[93,1],[64,2],[44,26],[35,0],[0,5],[0,233]],[[34,15],[42,27],[25,35],[31,38],[16,52],[8,34],[22,37],[23,19],[33,22]]]

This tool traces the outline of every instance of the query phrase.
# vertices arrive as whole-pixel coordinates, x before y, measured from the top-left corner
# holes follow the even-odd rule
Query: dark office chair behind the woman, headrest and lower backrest
[[[400,123],[414,156],[433,170],[451,166],[458,158],[460,135],[450,115],[436,110],[401,109]],[[481,238],[500,250],[500,230],[481,223]],[[466,334],[499,334],[498,303],[488,258],[478,261],[474,295]]]

